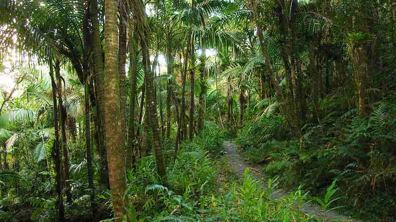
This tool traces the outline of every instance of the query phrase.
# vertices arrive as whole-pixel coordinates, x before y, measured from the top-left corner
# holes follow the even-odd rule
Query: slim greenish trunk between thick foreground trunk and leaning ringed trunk
[[[130,109],[129,109],[129,124],[128,124],[128,139],[127,139],[127,159],[126,169],[128,170],[135,156],[135,97],[136,97],[136,77],[137,77],[137,48],[138,48],[139,34],[135,26],[133,36],[129,43],[129,63],[131,75],[131,93],[130,93]]]

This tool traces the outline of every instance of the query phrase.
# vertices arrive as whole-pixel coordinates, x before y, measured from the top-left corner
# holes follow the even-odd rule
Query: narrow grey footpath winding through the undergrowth
[[[245,175],[246,168],[250,169],[250,174],[254,179],[259,180],[263,188],[267,186],[266,179],[261,174],[261,170],[256,170],[251,168],[245,160],[239,155],[237,145],[230,141],[224,142],[224,147],[226,153],[226,158],[228,165],[230,166],[232,172],[234,172],[239,178],[243,178]],[[289,195],[288,192],[281,189],[274,189],[270,197],[271,200],[276,200],[278,198]],[[298,204],[296,203],[296,209]],[[314,217],[320,221],[323,221],[323,215],[325,215],[326,222],[361,222],[346,216],[338,215],[336,213],[330,212],[326,213],[319,206],[313,204],[306,204],[301,207],[301,211],[307,215]]]

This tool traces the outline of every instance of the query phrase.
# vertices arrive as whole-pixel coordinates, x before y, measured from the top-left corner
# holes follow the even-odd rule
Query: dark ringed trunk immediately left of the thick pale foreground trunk
[[[99,32],[98,4],[97,0],[91,0],[91,21],[92,21],[92,40],[95,66],[95,91],[97,96],[97,119],[96,130],[98,134],[99,155],[101,157],[100,182],[107,188],[110,187],[108,178],[107,149],[105,141],[105,119],[104,119],[104,63],[102,44]]]

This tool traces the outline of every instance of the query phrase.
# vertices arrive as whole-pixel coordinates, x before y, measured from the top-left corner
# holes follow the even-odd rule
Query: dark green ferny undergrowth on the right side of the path
[[[374,104],[365,118],[342,107],[342,99],[326,99],[318,123],[307,123],[300,139],[280,115],[247,123],[235,139],[242,154],[262,164],[268,177],[285,187],[323,196],[338,180],[341,196],[334,206],[365,220],[395,221],[396,215],[396,105]]]

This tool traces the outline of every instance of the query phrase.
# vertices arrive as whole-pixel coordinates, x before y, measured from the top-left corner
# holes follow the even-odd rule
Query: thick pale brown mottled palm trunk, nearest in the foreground
[[[125,178],[125,158],[124,149],[120,141],[123,141],[120,117],[120,94],[118,85],[118,26],[117,26],[117,0],[106,0],[105,10],[105,41],[106,53],[104,56],[104,70],[106,72],[104,105],[104,123],[107,160],[109,170],[109,181],[113,201],[114,217],[117,222],[122,222],[125,215],[125,208],[122,196],[126,189]]]

